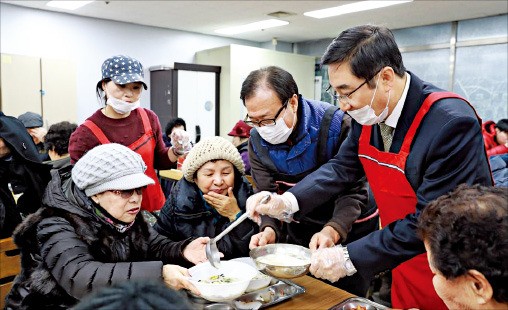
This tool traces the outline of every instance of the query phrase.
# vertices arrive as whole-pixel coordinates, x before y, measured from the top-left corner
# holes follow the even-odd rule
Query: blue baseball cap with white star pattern
[[[117,55],[106,59],[102,63],[102,80],[111,79],[118,85],[141,82],[143,87],[148,89],[144,77],[143,65],[132,57]]]

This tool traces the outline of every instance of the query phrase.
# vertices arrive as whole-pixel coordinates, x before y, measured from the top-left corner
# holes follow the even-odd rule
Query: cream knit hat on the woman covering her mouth
[[[242,156],[233,143],[222,137],[207,137],[197,143],[187,154],[182,166],[183,176],[187,181],[194,182],[194,173],[201,166],[214,159],[227,160],[241,174],[245,173]]]

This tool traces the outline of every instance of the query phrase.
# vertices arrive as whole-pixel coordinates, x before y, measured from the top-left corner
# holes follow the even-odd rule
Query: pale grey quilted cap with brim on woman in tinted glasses
[[[72,168],[72,180],[90,197],[108,190],[143,187],[155,182],[145,175],[141,156],[117,143],[101,144],[88,151]]]

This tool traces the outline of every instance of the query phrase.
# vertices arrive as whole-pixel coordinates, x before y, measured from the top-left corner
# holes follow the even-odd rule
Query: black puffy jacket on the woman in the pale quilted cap
[[[125,233],[98,220],[70,170],[52,172],[44,207],[14,233],[22,271],[6,297],[7,309],[66,309],[104,286],[162,279],[163,264],[192,265],[182,254],[190,239],[159,235],[141,214]]]

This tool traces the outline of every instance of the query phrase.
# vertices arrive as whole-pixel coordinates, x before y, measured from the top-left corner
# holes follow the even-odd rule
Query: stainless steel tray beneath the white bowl
[[[189,293],[190,301],[198,309],[260,309],[305,293],[305,288],[289,280],[276,279],[272,285],[243,294],[229,302],[214,303]]]

